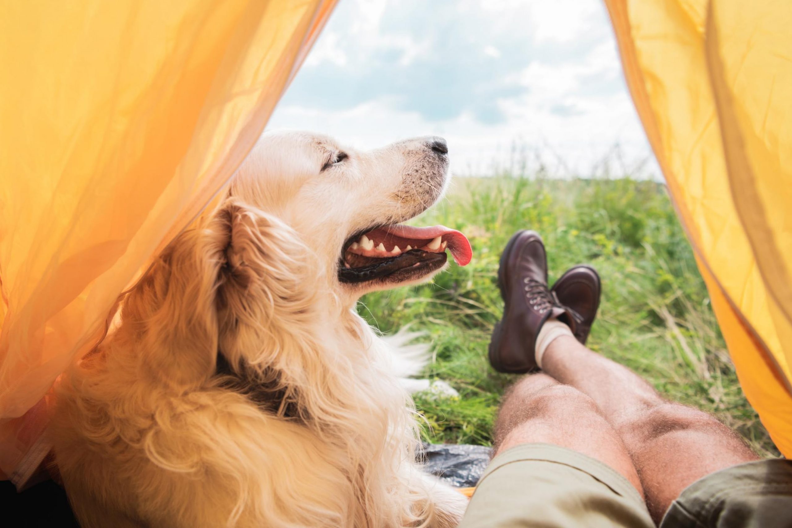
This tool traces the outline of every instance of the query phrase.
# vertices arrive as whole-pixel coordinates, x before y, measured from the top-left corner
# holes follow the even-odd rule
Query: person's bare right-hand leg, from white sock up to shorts
[[[571,336],[550,342],[542,368],[590,397],[619,432],[656,522],[689,484],[718,469],[758,459],[713,416],[664,400],[638,374]]]

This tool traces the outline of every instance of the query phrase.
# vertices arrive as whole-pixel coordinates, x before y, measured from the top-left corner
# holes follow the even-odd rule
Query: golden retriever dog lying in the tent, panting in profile
[[[263,135],[59,384],[51,434],[82,526],[456,526],[466,498],[415,462],[400,378],[420,361],[355,311],[446,249],[470,260],[463,234],[398,224],[447,168],[440,138]]]

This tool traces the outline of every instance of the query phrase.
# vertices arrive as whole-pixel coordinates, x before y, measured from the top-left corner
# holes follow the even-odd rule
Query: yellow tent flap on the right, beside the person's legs
[[[792,2],[605,0],[748,401],[792,455]]]

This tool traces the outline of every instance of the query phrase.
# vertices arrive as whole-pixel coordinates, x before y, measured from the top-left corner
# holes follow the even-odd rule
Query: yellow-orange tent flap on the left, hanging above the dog
[[[3,2],[0,477],[24,480],[41,398],[246,156],[334,3]]]

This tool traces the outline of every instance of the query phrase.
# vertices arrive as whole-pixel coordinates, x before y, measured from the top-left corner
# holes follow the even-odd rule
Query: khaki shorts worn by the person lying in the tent
[[[653,528],[638,491],[610,466],[550,444],[512,447],[487,467],[459,528]],[[661,528],[792,526],[792,462],[712,473],[672,503]]]

